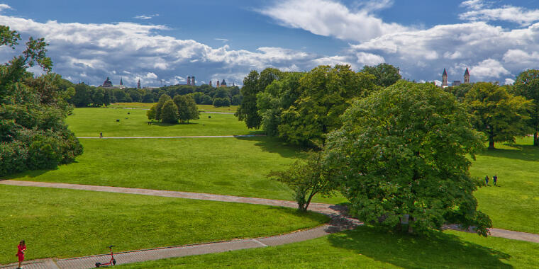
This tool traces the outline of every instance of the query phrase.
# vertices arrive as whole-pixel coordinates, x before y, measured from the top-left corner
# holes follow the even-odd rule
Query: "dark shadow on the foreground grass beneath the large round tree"
[[[509,254],[441,232],[428,236],[389,234],[365,225],[331,234],[328,241],[402,268],[513,268],[501,261],[511,258]]]

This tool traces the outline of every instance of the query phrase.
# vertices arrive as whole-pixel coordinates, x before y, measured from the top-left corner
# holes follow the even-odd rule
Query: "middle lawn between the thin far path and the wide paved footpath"
[[[269,137],[81,141],[84,154],[74,164],[9,178],[291,200],[287,186],[265,175],[302,156]]]

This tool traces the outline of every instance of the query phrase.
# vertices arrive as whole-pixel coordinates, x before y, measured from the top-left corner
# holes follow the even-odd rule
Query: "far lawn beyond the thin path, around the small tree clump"
[[[129,113],[129,114],[128,114]],[[120,120],[116,122],[116,120]],[[245,127],[234,115],[201,113],[189,124],[148,125],[146,110],[113,108],[75,108],[67,120],[77,137],[174,137],[194,135],[260,134]]]

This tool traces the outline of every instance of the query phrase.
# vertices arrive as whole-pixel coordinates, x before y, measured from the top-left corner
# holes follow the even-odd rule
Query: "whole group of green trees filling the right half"
[[[352,71],[265,69],[243,81],[238,120],[311,148],[309,157],[268,177],[294,190],[299,210],[316,194],[341,193],[350,213],[390,230],[424,233],[455,223],[487,236],[469,175],[488,144],[533,133],[538,145],[539,71],[512,86],[478,82],[440,88],[401,80],[389,64]]]

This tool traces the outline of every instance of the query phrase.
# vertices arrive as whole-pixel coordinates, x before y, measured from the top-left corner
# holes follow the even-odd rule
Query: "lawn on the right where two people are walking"
[[[539,149],[532,145],[532,137],[511,146],[499,143],[498,149],[486,150],[473,161],[472,176],[498,175],[496,187],[491,179],[475,193],[479,209],[496,228],[539,234]]]

